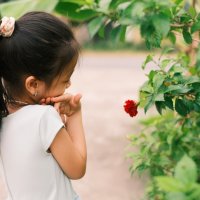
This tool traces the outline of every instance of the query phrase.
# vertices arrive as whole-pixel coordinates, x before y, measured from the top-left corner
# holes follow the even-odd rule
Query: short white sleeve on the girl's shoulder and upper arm
[[[40,138],[45,151],[48,150],[62,127],[64,127],[64,124],[59,113],[54,107],[48,106],[40,119],[39,125]]]

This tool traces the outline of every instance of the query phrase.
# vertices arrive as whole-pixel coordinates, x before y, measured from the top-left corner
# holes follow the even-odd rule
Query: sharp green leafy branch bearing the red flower
[[[142,67],[145,68],[149,62],[154,62],[158,69],[150,71],[149,80],[140,90],[140,103],[144,105],[145,112],[155,104],[160,114],[166,108],[182,116],[193,111],[199,113],[200,78],[196,74],[188,74],[189,57],[181,53],[177,58],[162,59],[161,55],[155,61],[149,55]]]

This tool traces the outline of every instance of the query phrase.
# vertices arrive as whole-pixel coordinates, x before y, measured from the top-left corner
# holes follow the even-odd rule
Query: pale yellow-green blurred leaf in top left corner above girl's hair
[[[2,16],[21,17],[30,11],[46,11],[51,12],[55,8],[58,0],[21,0],[0,4],[0,13]]]

